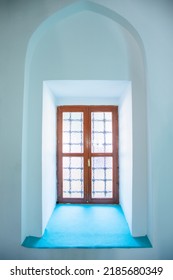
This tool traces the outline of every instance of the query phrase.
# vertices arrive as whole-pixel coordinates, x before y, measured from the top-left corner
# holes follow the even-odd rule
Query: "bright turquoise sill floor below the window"
[[[133,238],[119,205],[57,204],[42,238],[29,248],[148,248],[147,236]]]

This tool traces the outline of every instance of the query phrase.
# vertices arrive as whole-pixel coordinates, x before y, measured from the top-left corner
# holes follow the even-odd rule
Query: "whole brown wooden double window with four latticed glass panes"
[[[117,106],[60,106],[58,202],[118,203]]]

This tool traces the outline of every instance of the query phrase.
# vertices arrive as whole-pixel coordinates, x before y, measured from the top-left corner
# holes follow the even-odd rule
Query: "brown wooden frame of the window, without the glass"
[[[84,113],[84,151],[83,153],[62,152],[62,113]],[[91,112],[112,112],[112,153],[91,153]],[[63,198],[62,196],[62,158],[75,156],[84,158],[84,198]],[[113,198],[91,197],[91,157],[111,156],[113,158]],[[118,165],[118,106],[59,106],[57,107],[57,202],[63,203],[119,203],[119,165]]]

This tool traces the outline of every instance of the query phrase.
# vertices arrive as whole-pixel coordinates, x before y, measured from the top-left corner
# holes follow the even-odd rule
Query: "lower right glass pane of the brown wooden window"
[[[112,198],[112,157],[92,158],[92,198]]]

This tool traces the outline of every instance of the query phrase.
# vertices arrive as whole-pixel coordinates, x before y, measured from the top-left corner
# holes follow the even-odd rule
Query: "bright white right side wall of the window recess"
[[[133,223],[133,131],[131,84],[121,97],[119,105],[119,195],[131,233]]]

